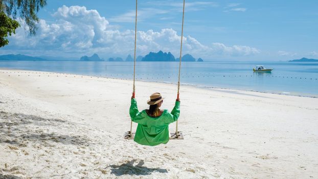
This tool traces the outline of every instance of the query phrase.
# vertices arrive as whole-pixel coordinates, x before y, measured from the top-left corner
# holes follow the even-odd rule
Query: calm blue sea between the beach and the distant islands
[[[177,83],[178,62],[136,62],[136,78]],[[274,68],[254,73],[255,65]],[[133,62],[0,61],[0,68],[132,79]],[[318,97],[318,62],[183,62],[183,84]],[[138,84],[137,84],[138,85]]]

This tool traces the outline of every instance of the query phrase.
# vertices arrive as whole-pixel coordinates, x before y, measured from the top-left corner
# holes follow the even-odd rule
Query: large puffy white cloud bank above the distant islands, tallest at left
[[[85,7],[62,6],[53,14],[53,23],[40,20],[35,36],[28,36],[24,29],[17,29],[10,37],[7,52],[18,52],[26,55],[82,56],[99,54],[101,57],[126,56],[133,54],[134,31],[119,31],[109,28],[109,22],[96,10]],[[116,25],[112,25],[116,26]],[[137,53],[146,55],[150,51],[171,52],[179,55],[180,36],[173,29],[161,31],[138,31]],[[190,53],[195,57],[249,56],[260,53],[260,50],[248,46],[225,46],[223,43],[201,44],[191,36],[184,37],[183,54]]]

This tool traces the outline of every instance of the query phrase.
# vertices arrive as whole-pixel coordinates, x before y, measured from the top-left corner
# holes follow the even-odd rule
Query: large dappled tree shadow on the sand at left
[[[19,147],[26,147],[28,141],[39,141],[44,146],[46,142],[53,141],[66,145],[89,145],[84,136],[69,136],[60,133],[48,133],[44,129],[29,128],[29,124],[37,126],[64,127],[65,121],[61,119],[46,119],[34,115],[7,113],[0,111],[0,143],[8,143]]]

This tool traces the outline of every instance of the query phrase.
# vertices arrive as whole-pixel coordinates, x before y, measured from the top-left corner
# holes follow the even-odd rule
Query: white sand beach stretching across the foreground
[[[160,92],[171,111],[176,91],[136,81],[139,110]],[[131,92],[131,80],[0,70],[0,178],[318,178],[318,98],[182,85],[185,139],[149,147],[123,138]]]

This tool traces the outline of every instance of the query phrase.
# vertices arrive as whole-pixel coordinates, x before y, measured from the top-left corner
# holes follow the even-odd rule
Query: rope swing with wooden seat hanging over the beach
[[[184,17],[185,17],[185,0],[183,1],[183,14],[182,14],[182,26],[181,26],[181,44],[180,44],[180,61],[179,61],[179,74],[178,74],[178,91],[177,100],[179,100],[179,90],[180,90],[180,69],[181,69],[181,57],[182,57],[182,42],[183,42],[183,32],[184,32]],[[136,46],[137,46],[137,8],[138,0],[136,0],[136,14],[135,14],[135,31],[134,31],[134,57],[133,57],[133,85],[132,85],[132,98],[135,97],[135,66],[136,66]],[[183,139],[183,135],[178,131],[178,121],[176,121],[175,133],[171,133],[170,139]],[[130,121],[130,131],[125,133],[125,139],[133,139],[132,135],[132,121]]]

